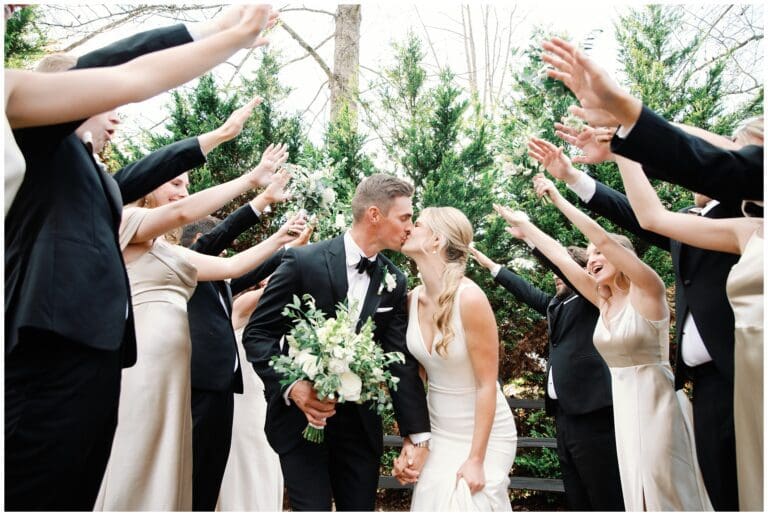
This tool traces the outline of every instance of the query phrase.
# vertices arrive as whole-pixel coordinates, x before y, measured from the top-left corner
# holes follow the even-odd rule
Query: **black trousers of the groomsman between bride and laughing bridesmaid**
[[[557,454],[574,511],[623,511],[613,408],[568,415],[556,408]]]

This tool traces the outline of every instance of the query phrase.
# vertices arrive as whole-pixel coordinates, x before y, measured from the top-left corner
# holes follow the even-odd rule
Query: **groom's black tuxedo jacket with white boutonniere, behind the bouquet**
[[[418,362],[408,352],[405,330],[408,325],[405,276],[384,255],[377,255],[377,267],[371,273],[371,283],[360,313],[360,320],[373,317],[376,325],[374,338],[385,352],[399,351],[405,356],[405,364],[393,364],[390,370],[400,378],[397,391],[393,391],[400,433],[409,435],[428,432],[424,385],[419,378]],[[378,294],[383,278],[382,268],[397,278],[397,286],[388,292]],[[301,433],[307,425],[304,413],[295,404],[286,405],[283,399],[284,387],[280,386],[280,375],[270,366],[273,355],[287,354],[287,346],[280,348],[280,338],[288,333],[291,321],[282,315],[283,308],[294,295],[301,297],[311,294],[317,307],[331,316],[336,305],[347,297],[347,265],[344,252],[344,237],[325,240],[300,249],[288,249],[277,268],[259,306],[251,315],[243,332],[243,345],[248,361],[264,382],[267,398],[267,439],[278,453],[287,453],[303,439]],[[391,310],[381,310],[391,308]],[[368,404],[357,406],[360,419],[366,428],[367,441],[378,453],[382,453],[381,418],[370,410]]]

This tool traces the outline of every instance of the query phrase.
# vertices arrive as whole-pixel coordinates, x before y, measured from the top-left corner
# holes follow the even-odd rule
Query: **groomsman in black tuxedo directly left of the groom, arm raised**
[[[268,152],[270,150],[259,164],[264,168],[265,178],[272,180],[264,192],[218,225],[213,217],[189,224],[184,228],[182,245],[216,256],[255,226],[268,205],[286,200],[283,188],[288,176],[278,177],[274,172],[287,159],[287,153],[285,158],[273,161]],[[213,225],[215,227],[211,227]],[[268,276],[281,258],[282,252],[275,253],[253,271],[233,279],[231,284],[200,281],[187,303],[192,340],[192,508],[195,511],[216,509],[232,442],[234,394],[243,392],[232,329],[232,296]]]

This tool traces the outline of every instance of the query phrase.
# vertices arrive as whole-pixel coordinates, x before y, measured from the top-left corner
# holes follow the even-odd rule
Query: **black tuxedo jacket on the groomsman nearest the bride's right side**
[[[536,254],[563,278],[554,264],[540,253]],[[501,268],[496,281],[547,318],[547,375],[551,368],[555,369],[557,403],[563,412],[577,416],[612,406],[611,372],[592,340],[600,313],[597,307],[578,294],[564,300],[550,296],[506,267]],[[547,413],[554,415],[554,400],[546,387],[544,391]]]

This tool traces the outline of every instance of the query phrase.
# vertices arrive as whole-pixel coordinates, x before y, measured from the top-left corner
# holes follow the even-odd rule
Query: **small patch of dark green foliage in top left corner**
[[[5,66],[28,68],[45,54],[48,38],[37,24],[39,7],[30,5],[5,22]]]

